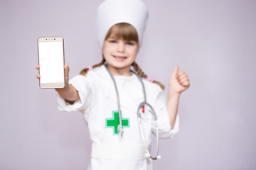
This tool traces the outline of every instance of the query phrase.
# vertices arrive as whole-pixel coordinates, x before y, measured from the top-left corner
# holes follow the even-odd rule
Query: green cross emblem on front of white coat
[[[106,118],[106,128],[113,128],[114,135],[118,135],[118,130],[117,130],[118,125],[119,125],[118,111],[112,111],[112,118]],[[122,118],[122,127],[129,128],[129,118]]]

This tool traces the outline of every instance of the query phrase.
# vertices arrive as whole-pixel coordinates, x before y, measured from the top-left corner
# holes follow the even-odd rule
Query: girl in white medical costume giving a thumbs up
[[[142,83],[130,71],[131,66],[143,78],[146,100],[156,111],[159,137],[173,137],[178,132],[178,100],[189,86],[188,77],[185,72],[178,72],[178,66],[174,68],[166,102],[164,86],[139,68],[135,60],[146,18],[147,10],[142,1],[104,1],[97,11],[102,62],[83,69],[70,80],[69,67],[65,64],[65,88],[56,89],[58,108],[80,111],[85,118],[92,140],[88,169],[152,169],[151,159],[145,157],[137,120],[139,103],[144,100]],[[39,79],[40,75],[37,77]],[[142,110],[144,140],[146,145],[151,145],[151,132],[157,133],[156,123],[149,106],[139,109]]]

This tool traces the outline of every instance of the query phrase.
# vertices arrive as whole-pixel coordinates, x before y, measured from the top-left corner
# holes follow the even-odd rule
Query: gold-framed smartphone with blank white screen
[[[64,40],[62,37],[38,38],[38,63],[41,89],[65,87]]]

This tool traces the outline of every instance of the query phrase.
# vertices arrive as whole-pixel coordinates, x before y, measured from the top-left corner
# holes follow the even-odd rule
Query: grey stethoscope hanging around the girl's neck
[[[110,70],[107,68],[107,65],[105,65],[105,68],[107,69],[107,72],[110,74],[110,77],[114,83],[114,89],[116,91],[116,94],[117,94],[117,107],[118,107],[118,114],[119,114],[119,125],[117,126],[117,130],[120,134],[120,137],[122,139],[122,136],[124,135],[124,128],[122,127],[122,113],[121,113],[121,108],[120,108],[120,99],[119,99],[119,93],[118,93],[118,89],[117,89],[117,84],[114,80],[114,77],[112,75],[112,73],[110,72]],[[145,146],[145,149],[146,149],[146,154],[145,154],[145,157],[149,157],[151,159],[160,159],[161,156],[158,154],[159,153],[159,128],[158,128],[158,124],[157,124],[157,116],[156,116],[156,113],[154,111],[154,108],[146,102],[146,90],[145,90],[145,86],[144,86],[144,83],[142,81],[142,78],[139,77],[139,75],[137,73],[135,73],[134,71],[130,70],[132,73],[134,73],[139,81],[141,82],[142,84],[142,89],[143,89],[143,94],[144,94],[144,101],[142,103],[139,104],[138,106],[138,109],[137,109],[137,116],[138,116],[138,121],[139,121],[139,129],[140,129],[140,132],[141,132],[141,135],[142,135],[142,140],[144,142],[144,146]],[[148,106],[149,107],[149,112],[154,116],[154,122],[155,122],[155,125],[156,125],[156,156],[155,157],[152,157],[151,156],[151,153],[149,152],[149,148],[146,146],[146,140],[145,140],[145,137],[144,137],[144,133],[143,133],[143,130],[142,130],[142,113],[145,112],[145,106]]]

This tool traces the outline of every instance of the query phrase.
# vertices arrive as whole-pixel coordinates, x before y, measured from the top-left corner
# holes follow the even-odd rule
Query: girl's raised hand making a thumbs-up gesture
[[[169,92],[181,94],[190,86],[187,74],[182,70],[178,72],[178,65],[174,67],[169,81]]]

